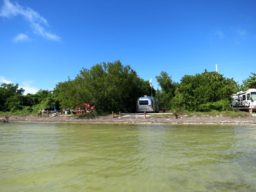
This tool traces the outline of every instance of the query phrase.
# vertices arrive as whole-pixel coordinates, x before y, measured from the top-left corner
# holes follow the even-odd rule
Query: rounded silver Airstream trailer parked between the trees
[[[137,113],[142,113],[146,111],[146,113],[156,113],[159,112],[158,100],[154,97],[148,97],[144,95],[144,97],[139,97],[137,99]]]

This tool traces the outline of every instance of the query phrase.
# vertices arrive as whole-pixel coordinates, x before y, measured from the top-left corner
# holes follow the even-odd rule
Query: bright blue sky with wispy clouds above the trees
[[[53,90],[120,60],[157,88],[204,69],[240,84],[256,73],[256,1],[0,0],[0,84]]]

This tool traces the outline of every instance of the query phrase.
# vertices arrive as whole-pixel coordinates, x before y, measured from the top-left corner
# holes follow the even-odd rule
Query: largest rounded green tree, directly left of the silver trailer
[[[120,61],[96,64],[80,71],[74,80],[56,85],[63,108],[83,107],[84,103],[102,111],[134,111],[136,100],[150,93],[149,82]],[[154,90],[155,93],[155,90]]]

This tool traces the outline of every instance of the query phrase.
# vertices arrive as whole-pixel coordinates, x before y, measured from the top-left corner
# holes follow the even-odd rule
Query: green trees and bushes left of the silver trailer
[[[149,81],[141,79],[129,65],[123,66],[119,60],[83,68],[74,80],[68,78],[68,81],[59,82],[53,91],[39,90],[24,96],[24,90],[19,90],[18,84],[2,84],[2,92],[5,97],[0,100],[1,111],[11,112],[53,110],[54,106],[57,109],[80,107],[89,110],[88,105],[102,112],[135,112],[138,97],[156,94]]]

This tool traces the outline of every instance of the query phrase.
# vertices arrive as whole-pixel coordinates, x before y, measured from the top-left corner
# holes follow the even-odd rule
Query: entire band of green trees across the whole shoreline
[[[242,85],[233,78],[225,78],[218,72],[208,72],[194,76],[185,75],[180,83],[173,82],[172,76],[162,71],[156,76],[161,90],[150,87],[149,81],[140,78],[129,66],[121,62],[100,63],[90,69],[83,68],[75,79],[59,82],[52,91],[39,90],[36,94],[23,95],[18,84],[1,84],[0,111],[31,113],[39,109],[53,110],[76,107],[85,108],[87,103],[96,111],[136,111],[136,100],[143,95],[159,100],[162,108],[187,111],[228,110],[231,95],[256,87],[256,74],[249,76]]]

